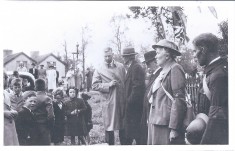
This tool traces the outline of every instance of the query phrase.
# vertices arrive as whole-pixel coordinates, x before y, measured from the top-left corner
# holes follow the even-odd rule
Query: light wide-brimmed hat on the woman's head
[[[160,40],[157,44],[152,45],[152,48],[158,48],[158,47],[162,47],[162,48],[168,48],[169,50],[172,51],[172,53],[174,53],[176,56],[181,56],[181,53],[179,52],[179,48],[178,46],[172,42],[169,41],[167,39],[162,39]]]

